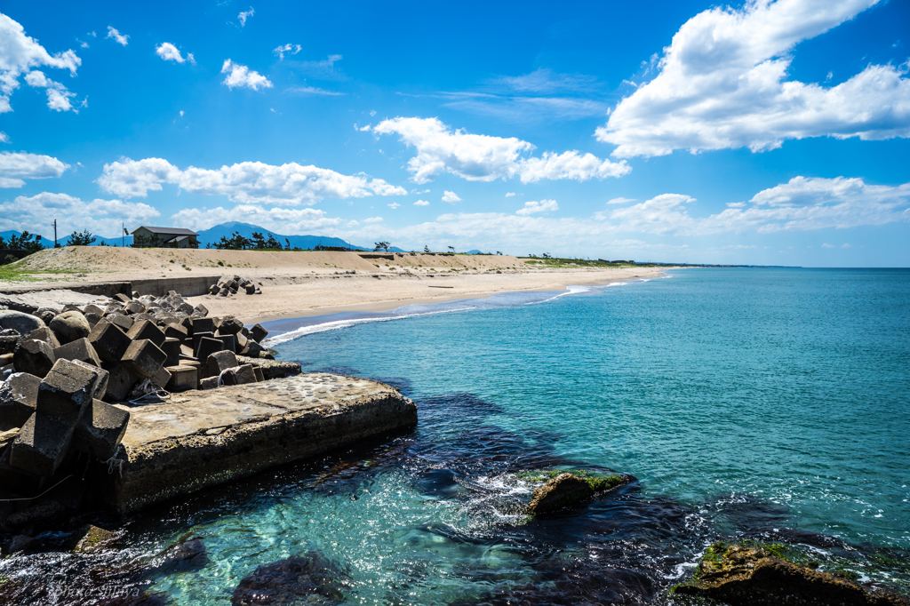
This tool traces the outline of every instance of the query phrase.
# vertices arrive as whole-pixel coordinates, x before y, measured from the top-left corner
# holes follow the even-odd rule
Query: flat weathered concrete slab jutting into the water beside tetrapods
[[[120,513],[417,424],[417,406],[397,389],[325,373],[187,391],[128,409],[123,448],[107,476],[108,502]]]

